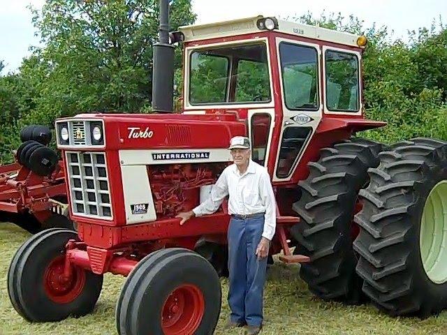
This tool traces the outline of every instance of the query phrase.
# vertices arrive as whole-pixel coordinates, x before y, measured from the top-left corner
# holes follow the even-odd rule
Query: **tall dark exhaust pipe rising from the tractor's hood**
[[[159,43],[154,44],[152,64],[152,110],[172,113],[174,46],[169,44],[169,0],[160,0]]]

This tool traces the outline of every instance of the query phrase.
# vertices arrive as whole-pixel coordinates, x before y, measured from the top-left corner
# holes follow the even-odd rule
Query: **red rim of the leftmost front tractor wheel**
[[[47,297],[57,304],[68,304],[75,300],[85,285],[85,271],[73,267],[73,274],[64,278],[65,255],[60,255],[50,262],[43,274],[43,288]]]

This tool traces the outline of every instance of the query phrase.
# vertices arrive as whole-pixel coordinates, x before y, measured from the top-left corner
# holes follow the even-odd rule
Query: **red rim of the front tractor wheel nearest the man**
[[[191,335],[196,332],[205,312],[205,299],[196,285],[181,285],[166,298],[161,310],[165,335]]]

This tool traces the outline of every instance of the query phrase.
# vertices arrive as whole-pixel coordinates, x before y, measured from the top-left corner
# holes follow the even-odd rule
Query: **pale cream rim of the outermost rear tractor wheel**
[[[447,281],[447,181],[440,181],[425,200],[420,221],[420,258],[430,281]]]

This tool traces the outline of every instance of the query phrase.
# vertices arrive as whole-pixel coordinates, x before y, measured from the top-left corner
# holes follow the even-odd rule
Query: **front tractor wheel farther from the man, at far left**
[[[8,271],[8,294],[17,313],[26,320],[59,321],[93,310],[103,276],[74,267],[71,278],[63,278],[69,239],[78,240],[78,235],[57,228],[44,230],[15,253]]]

